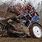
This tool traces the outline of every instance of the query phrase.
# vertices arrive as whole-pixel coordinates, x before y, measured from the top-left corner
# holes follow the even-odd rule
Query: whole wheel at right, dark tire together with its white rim
[[[32,24],[29,29],[31,37],[41,38],[42,37],[42,27],[38,23]]]

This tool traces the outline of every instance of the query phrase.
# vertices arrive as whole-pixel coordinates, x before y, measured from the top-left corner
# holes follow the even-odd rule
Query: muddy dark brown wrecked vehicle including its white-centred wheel
[[[3,36],[5,33],[17,37],[30,36],[41,38],[42,28],[38,22],[32,21],[30,14],[14,15],[12,18],[0,20],[0,36]]]

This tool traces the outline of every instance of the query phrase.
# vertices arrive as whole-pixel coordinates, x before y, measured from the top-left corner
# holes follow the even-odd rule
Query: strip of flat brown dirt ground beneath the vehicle
[[[41,39],[37,39],[37,38],[2,37],[2,38],[0,38],[0,42],[42,42],[42,38]]]

